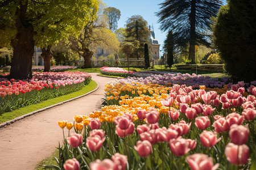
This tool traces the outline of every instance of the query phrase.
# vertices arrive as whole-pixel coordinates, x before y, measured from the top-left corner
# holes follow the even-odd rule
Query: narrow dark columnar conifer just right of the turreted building
[[[171,30],[164,40],[164,50],[167,52],[167,65],[171,68],[174,64],[174,36]]]

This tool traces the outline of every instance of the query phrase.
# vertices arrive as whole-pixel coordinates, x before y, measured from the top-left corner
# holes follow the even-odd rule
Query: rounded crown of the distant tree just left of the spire
[[[138,40],[147,42],[149,30],[147,22],[141,15],[133,15],[126,21],[126,38],[129,40]]]

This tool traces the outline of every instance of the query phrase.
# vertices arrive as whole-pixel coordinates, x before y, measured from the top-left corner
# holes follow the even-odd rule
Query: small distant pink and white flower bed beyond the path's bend
[[[119,67],[101,67],[101,74],[105,75],[117,75],[117,76],[129,76],[129,72]],[[130,71],[133,74],[133,71]]]

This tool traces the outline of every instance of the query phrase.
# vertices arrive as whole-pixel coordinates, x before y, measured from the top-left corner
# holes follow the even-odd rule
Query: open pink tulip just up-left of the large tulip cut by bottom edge
[[[178,137],[177,139],[171,139],[169,144],[172,153],[176,156],[185,155],[190,151],[189,143],[184,138]]]

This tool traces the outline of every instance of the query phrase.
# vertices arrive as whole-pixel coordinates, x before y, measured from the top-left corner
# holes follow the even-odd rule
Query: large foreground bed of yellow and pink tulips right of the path
[[[256,87],[245,95],[239,82],[218,95],[205,86],[126,83],[106,84],[106,97],[113,99],[106,98],[102,111],[77,115],[74,125],[59,121],[63,134],[64,128],[76,132],[59,148],[60,168],[254,168]]]

